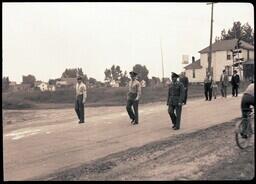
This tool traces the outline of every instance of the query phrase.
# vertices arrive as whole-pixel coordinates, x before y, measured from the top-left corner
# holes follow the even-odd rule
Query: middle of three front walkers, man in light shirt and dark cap
[[[131,81],[129,82],[129,89],[127,94],[126,110],[133,125],[139,124],[139,99],[141,96],[141,84],[136,79],[137,73],[130,72]],[[132,109],[133,107],[133,109]]]

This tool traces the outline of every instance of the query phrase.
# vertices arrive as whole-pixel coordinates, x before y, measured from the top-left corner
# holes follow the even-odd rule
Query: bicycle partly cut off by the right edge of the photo
[[[244,125],[244,123],[247,122],[247,125]],[[245,130],[243,131],[243,126],[245,127]],[[251,144],[253,145],[254,142],[254,111],[253,108],[249,108],[247,112],[247,118],[243,118],[241,122],[238,122],[236,124],[236,130],[235,130],[235,138],[236,138],[236,144],[240,149],[245,149]]]

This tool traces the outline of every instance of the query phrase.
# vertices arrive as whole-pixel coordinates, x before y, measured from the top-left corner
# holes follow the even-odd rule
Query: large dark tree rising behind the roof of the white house
[[[227,32],[225,29],[221,31],[221,36],[216,37],[215,41],[219,40],[230,40],[234,38],[241,38],[241,40],[248,42],[254,45],[254,32],[252,27],[246,23],[241,25],[241,22],[234,22],[233,27],[229,29]]]

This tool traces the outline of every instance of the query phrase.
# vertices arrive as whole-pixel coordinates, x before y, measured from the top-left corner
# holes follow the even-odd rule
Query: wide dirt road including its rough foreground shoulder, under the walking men
[[[86,124],[73,109],[4,111],[4,180],[250,179],[254,161],[241,176],[213,172],[252,161],[234,145],[240,100],[190,101],[179,131],[163,103],[141,105],[137,126],[125,107],[87,108]]]

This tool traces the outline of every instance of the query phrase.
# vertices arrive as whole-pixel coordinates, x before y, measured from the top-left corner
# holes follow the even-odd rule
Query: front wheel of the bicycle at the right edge
[[[238,122],[236,125],[235,137],[236,137],[236,144],[240,149],[245,149],[248,147],[250,142],[250,135],[247,138],[242,137],[242,130],[243,130],[243,121]],[[247,134],[247,131],[245,131]],[[248,134],[247,134],[248,135]]]

